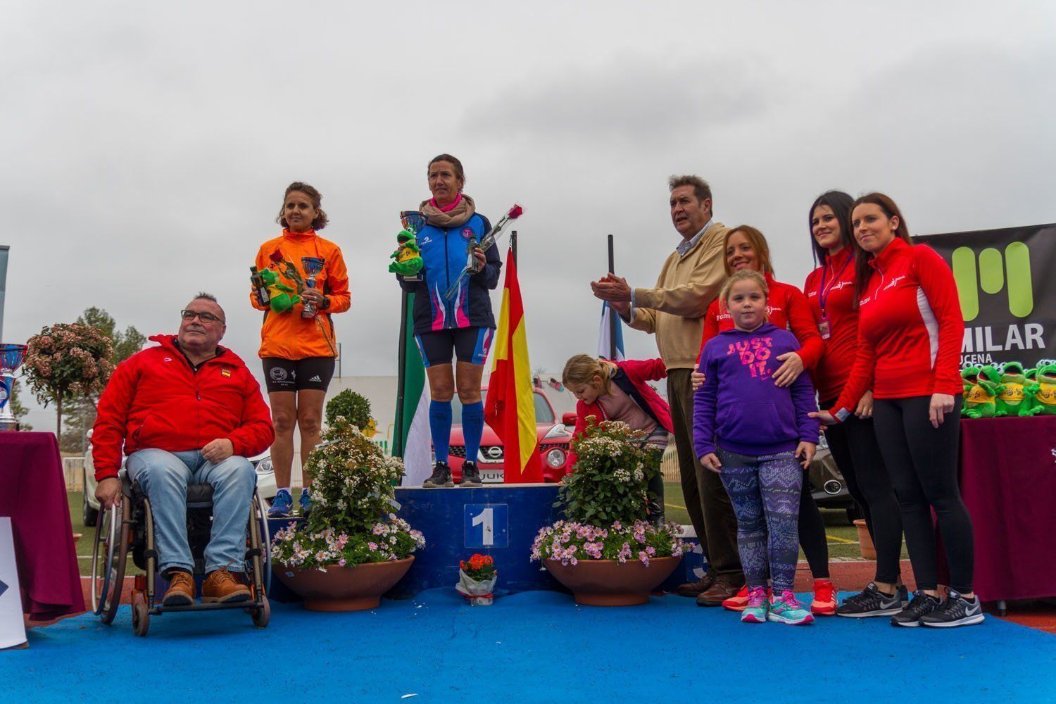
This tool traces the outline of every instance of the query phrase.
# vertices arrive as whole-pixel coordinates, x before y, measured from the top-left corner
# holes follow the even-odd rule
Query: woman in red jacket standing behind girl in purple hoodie
[[[758,271],[767,281],[770,289],[767,297],[767,322],[791,330],[799,341],[798,351],[777,357],[781,365],[774,370],[774,382],[778,386],[790,386],[805,369],[813,369],[824,350],[822,336],[818,335],[814,317],[810,312],[810,304],[803,291],[795,286],[774,281],[767,239],[762,236],[762,232],[748,225],[730,230],[725,237],[727,275],[733,275],[741,269]],[[721,297],[715,299],[704,313],[701,353],[709,340],[723,330],[734,328],[733,318],[720,299]],[[698,366],[699,363],[698,359]],[[693,377],[694,388],[697,388],[698,377],[702,379],[702,375],[694,373]],[[799,545],[814,575],[814,598],[810,610],[816,615],[831,616],[836,612],[836,592],[829,578],[829,544],[825,535],[825,520],[810,493],[807,477],[804,477],[799,493]],[[733,611],[742,611],[748,606],[748,586],[722,602],[722,606]]]

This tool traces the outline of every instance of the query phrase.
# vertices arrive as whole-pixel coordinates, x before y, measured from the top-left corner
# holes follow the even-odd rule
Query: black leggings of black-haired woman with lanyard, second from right
[[[835,399],[823,403],[831,408]],[[850,416],[825,429],[825,438],[847,491],[862,510],[876,549],[876,582],[895,584],[902,569],[902,513],[891,477],[884,467],[871,418]]]

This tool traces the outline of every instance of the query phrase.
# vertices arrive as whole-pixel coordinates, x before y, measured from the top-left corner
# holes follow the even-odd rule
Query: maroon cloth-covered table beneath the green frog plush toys
[[[979,597],[1056,596],[1056,416],[964,419],[959,464]]]

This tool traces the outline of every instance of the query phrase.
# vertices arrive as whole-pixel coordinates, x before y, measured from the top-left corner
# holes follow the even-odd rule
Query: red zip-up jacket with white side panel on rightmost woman
[[[857,356],[830,413],[847,418],[870,383],[878,399],[963,393],[964,318],[949,266],[927,245],[905,240],[894,240],[869,263]]]

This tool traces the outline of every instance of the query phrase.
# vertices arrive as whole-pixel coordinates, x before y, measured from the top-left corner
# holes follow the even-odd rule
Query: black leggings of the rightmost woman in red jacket
[[[939,582],[931,522],[935,510],[949,563],[949,586],[959,592],[972,591],[972,517],[957,484],[961,400],[960,395],[954,397],[954,410],[939,427],[928,420],[929,396],[873,401],[876,440],[902,507],[918,589],[936,589]]]

